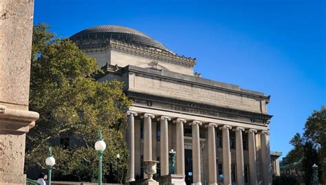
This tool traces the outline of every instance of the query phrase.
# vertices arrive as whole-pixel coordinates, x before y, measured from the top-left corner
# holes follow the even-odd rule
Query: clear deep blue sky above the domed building
[[[292,148],[312,111],[326,105],[323,0],[35,0],[34,24],[58,36],[96,25],[140,30],[197,58],[195,72],[270,95],[272,151]]]

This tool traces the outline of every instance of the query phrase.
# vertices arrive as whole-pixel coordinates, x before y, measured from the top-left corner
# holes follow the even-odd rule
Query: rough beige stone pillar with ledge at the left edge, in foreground
[[[28,111],[33,7],[0,2],[0,184],[26,184],[25,133],[39,118]]]

